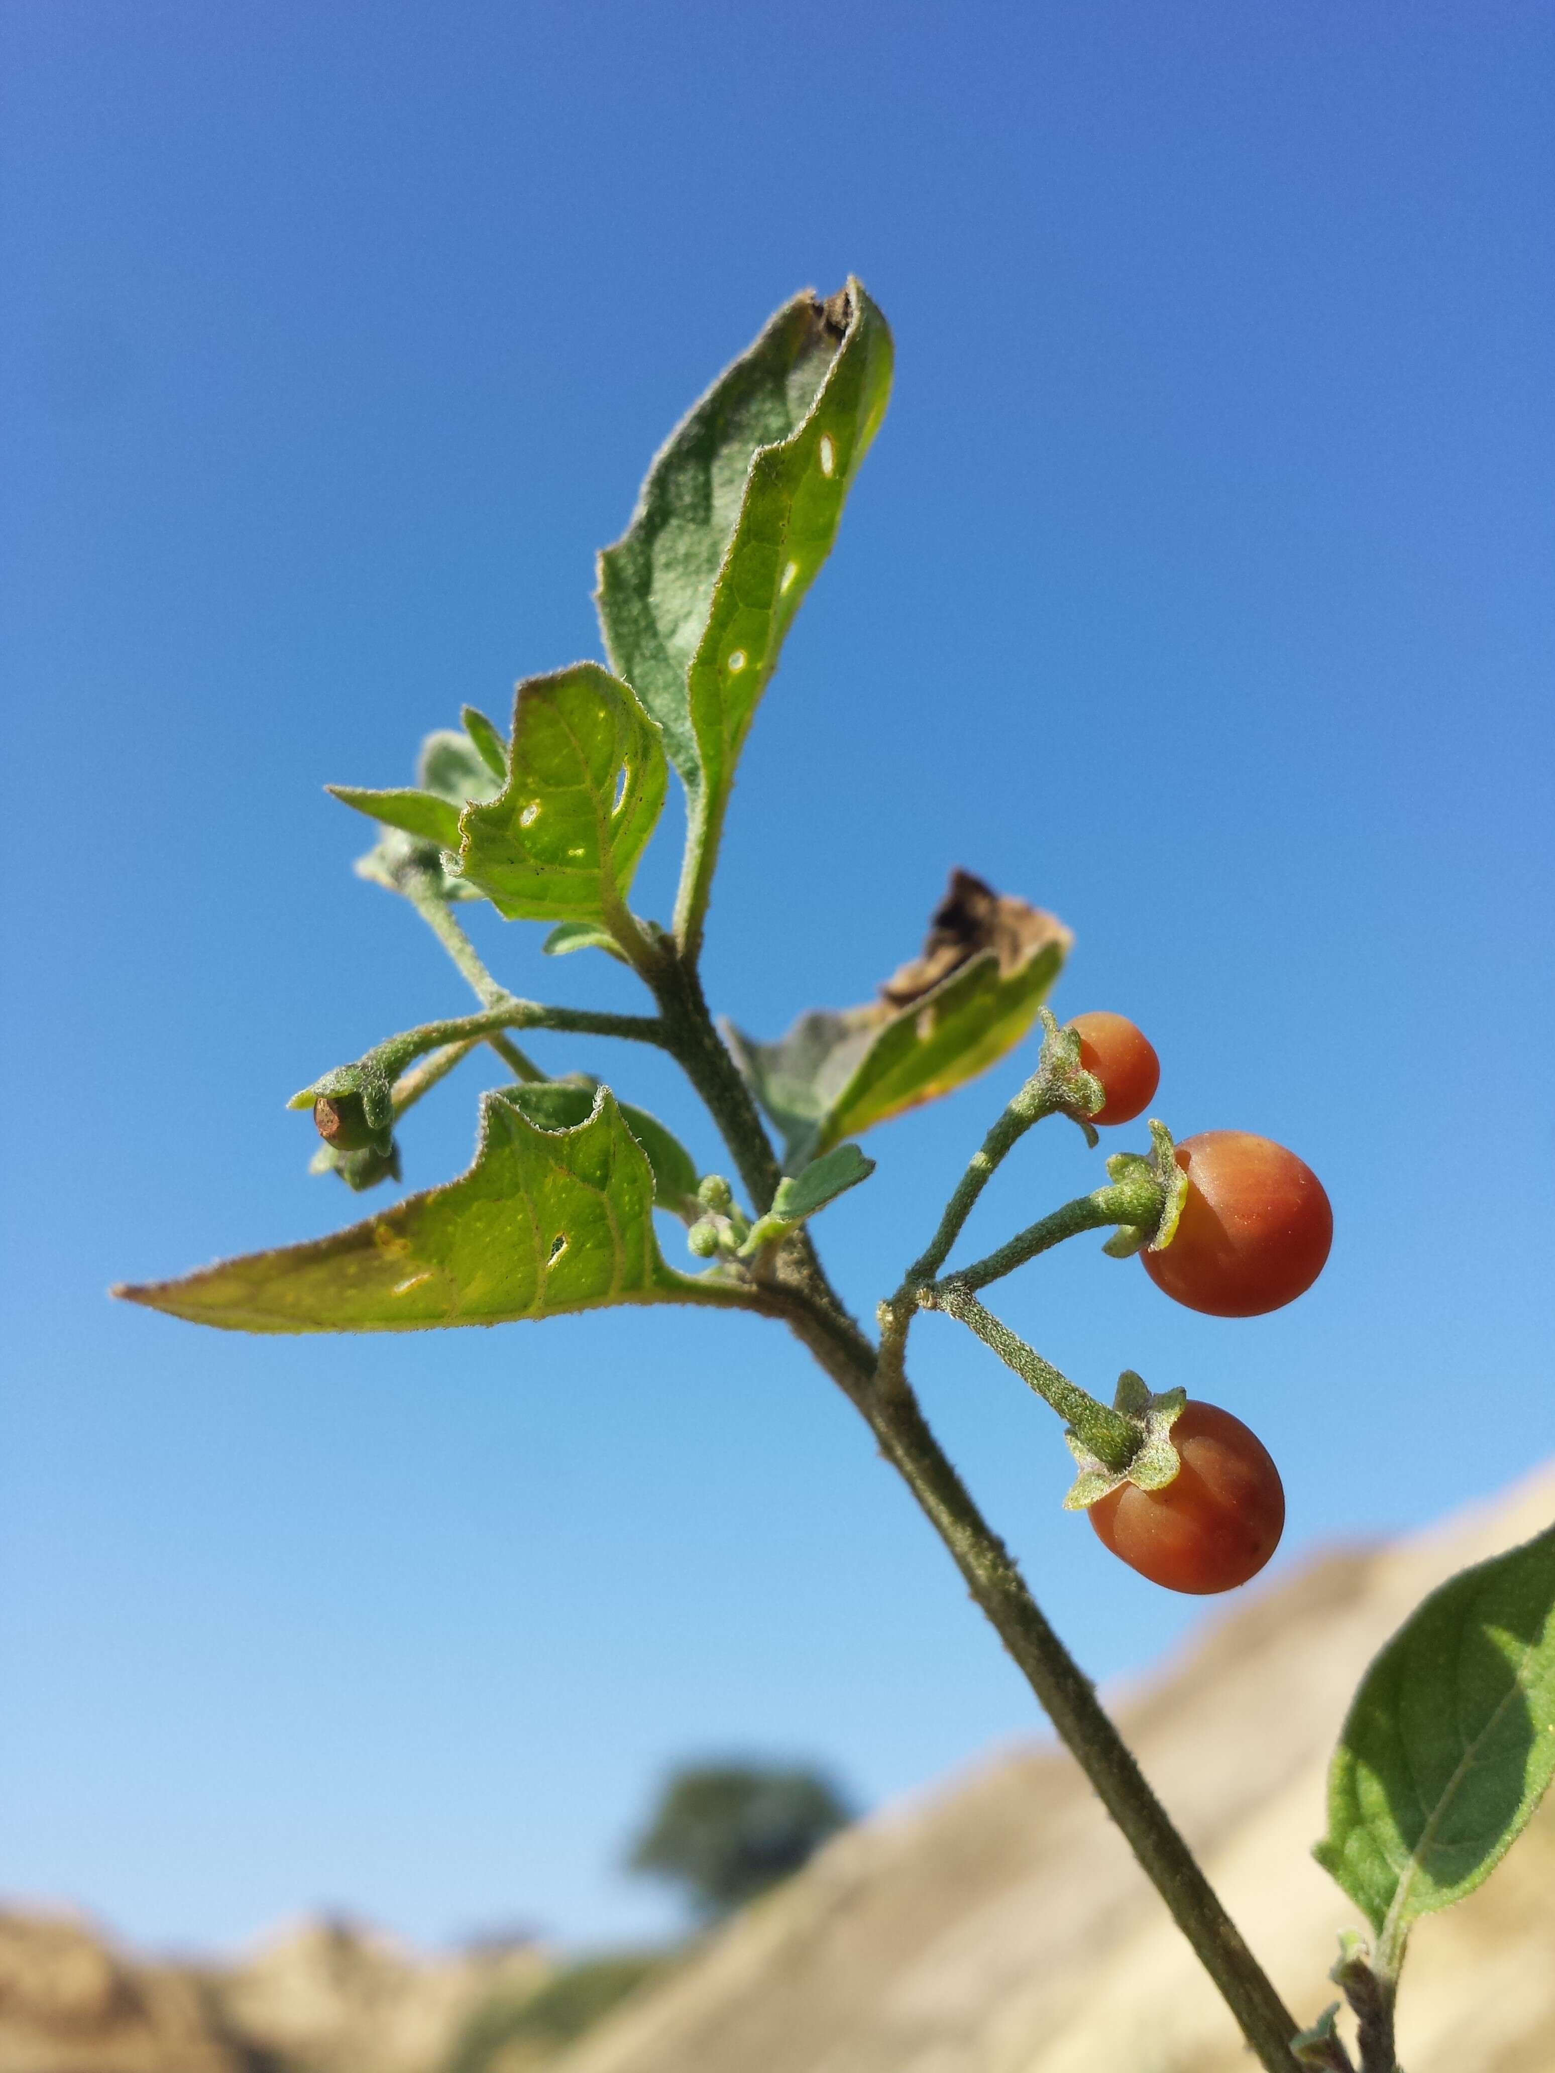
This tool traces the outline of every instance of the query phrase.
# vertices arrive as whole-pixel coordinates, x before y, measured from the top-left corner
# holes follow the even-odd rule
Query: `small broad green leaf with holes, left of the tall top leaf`
[[[663,808],[659,730],[576,661],[518,686],[508,782],[462,817],[460,873],[508,920],[610,922]]]

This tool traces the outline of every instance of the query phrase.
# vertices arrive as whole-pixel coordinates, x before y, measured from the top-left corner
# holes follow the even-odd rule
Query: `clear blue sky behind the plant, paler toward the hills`
[[[0,1886],[162,1944],[311,1905],[597,1942],[672,1920],[616,1862],[684,1754],[873,1806],[1039,1729],[775,1329],[104,1300],[350,1221],[282,1103],[462,993],[321,784],[597,653],[649,454],[850,269],[896,400],[744,757],[715,1003],[867,997],[950,864],[1026,893],[1059,1010],[1149,1028],[1178,1134],[1300,1151],[1337,1238],[1277,1316],[1080,1242],[1010,1321],[1254,1424],[1281,1563],[1551,1451],[1547,8],[54,0],[8,46]],[[713,1163],[661,1059],[535,1049]],[[863,1310],[1028,1068],[871,1140],[823,1231]],[[1039,1134],[972,1242],[1097,1171]],[[1086,1667],[1171,1648],[1198,1609],[1059,1513],[1055,1420],[943,1321],[916,1370]]]

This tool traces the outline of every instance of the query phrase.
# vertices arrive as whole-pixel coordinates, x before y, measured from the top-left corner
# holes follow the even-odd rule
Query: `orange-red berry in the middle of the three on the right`
[[[1271,1138],[1205,1130],[1178,1144],[1188,1175],[1171,1244],[1140,1252],[1159,1289],[1207,1316],[1263,1316],[1323,1273],[1333,1209],[1317,1173]]]

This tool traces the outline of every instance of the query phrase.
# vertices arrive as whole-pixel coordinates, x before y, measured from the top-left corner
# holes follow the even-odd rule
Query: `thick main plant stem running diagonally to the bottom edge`
[[[682,960],[666,966],[655,981],[655,995],[663,1014],[666,1049],[680,1059],[703,1095],[753,1206],[763,1213],[780,1180],[778,1159],[751,1090],[713,1028],[695,970]],[[1107,1192],[1097,1190],[1097,1194]],[[1113,1219],[1097,1215],[1095,1221]],[[1074,1225],[1074,1229],[1084,1227],[1088,1225]],[[945,1542],[972,1598],[993,1623],[1059,1739],[1122,1828],[1178,1928],[1242,2025],[1259,2063],[1267,2073],[1298,2073],[1290,2040],[1300,2025],[1244,1944],[1215,1889],[1171,1824],[1171,1816],[1107,1719],[1091,1681],[1049,1627],[1008,1549],[935,1441],[900,1362],[892,1368],[877,1358],[827,1281],[807,1231],[796,1231],[775,1252],[780,1279],[767,1289],[753,1291],[753,1308],[761,1306],[769,1314],[784,1316],[867,1420],[881,1453]]]

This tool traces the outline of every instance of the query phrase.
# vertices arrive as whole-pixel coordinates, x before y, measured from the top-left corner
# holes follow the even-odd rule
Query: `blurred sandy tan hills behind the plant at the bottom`
[[[1122,1712],[1306,2021],[1348,1903],[1312,1864],[1370,1654],[1437,1582],[1543,1530],[1555,1468],[1393,1546],[1323,1555],[1213,1617]],[[674,1795],[666,1793],[663,1810]],[[825,1824],[823,1824],[825,1826]],[[1426,1922],[1410,2073],[1547,2073],[1555,1810]],[[856,1822],[680,1949],[417,1955],[313,1922],[247,1959],[145,1963],[0,1922],[0,2073],[1238,2073],[1229,2017],[1072,1764],[1018,1748]]]

